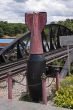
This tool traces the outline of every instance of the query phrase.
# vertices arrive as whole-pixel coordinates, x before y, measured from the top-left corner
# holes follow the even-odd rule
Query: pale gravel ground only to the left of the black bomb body
[[[15,76],[14,79],[18,82],[20,82],[23,79],[23,74]],[[24,80],[21,82],[22,84],[26,85],[26,77]],[[0,83],[0,98],[8,98],[8,93],[7,93],[7,82],[4,81]],[[12,89],[12,98],[14,100],[18,100],[21,93],[26,92],[26,86],[20,85],[19,83],[14,83],[13,84],[13,89]]]

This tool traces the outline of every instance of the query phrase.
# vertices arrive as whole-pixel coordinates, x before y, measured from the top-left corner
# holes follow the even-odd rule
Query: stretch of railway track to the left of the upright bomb
[[[7,73],[11,72],[11,75],[14,76],[16,74],[19,74],[23,71],[26,71],[26,59],[20,59],[18,61],[3,64],[0,66],[0,81],[4,80],[7,77]]]

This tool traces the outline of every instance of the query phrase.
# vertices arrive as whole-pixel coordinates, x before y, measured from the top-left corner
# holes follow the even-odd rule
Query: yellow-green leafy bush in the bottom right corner
[[[54,102],[57,106],[73,109],[73,75],[61,82],[61,87],[56,92]]]

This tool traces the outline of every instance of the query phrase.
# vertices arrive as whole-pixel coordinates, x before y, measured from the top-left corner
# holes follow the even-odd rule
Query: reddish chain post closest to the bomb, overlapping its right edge
[[[43,104],[47,104],[47,91],[46,91],[46,75],[42,74],[42,101]]]

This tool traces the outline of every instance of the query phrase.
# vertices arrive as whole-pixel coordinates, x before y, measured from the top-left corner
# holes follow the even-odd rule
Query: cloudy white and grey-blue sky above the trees
[[[25,13],[47,12],[47,23],[73,19],[73,0],[0,0],[0,21],[24,23]]]

